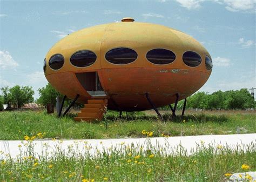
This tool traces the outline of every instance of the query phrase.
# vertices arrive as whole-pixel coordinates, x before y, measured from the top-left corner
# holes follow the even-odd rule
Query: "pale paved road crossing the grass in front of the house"
[[[227,135],[205,135],[205,136],[184,136],[184,137],[157,137],[157,138],[122,138],[122,139],[86,139],[86,140],[34,140],[33,152],[38,156],[51,156],[56,151],[65,152],[66,155],[75,153],[90,153],[95,155],[102,151],[116,147],[122,152],[127,146],[144,146],[146,150],[151,144],[159,150],[165,148],[166,153],[176,152],[181,145],[187,154],[193,153],[198,145],[211,144],[217,146],[235,147],[236,145],[246,146],[256,141],[256,133],[252,134],[227,134]],[[28,141],[24,140],[0,140],[0,159],[11,157],[29,156]],[[72,148],[72,149],[71,149]],[[2,152],[1,152],[2,151]],[[7,155],[6,155],[7,154]]]

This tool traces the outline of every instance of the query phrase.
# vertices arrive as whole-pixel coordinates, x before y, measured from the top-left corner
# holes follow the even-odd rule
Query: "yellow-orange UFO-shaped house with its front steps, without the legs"
[[[132,18],[74,32],[44,59],[48,82],[85,104],[76,120],[101,119],[106,104],[143,111],[177,103],[199,90],[211,71],[211,56],[196,39]]]

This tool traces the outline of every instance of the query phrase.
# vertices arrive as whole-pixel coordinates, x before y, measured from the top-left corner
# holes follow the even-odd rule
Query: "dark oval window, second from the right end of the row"
[[[202,59],[198,53],[187,51],[183,54],[183,62],[188,66],[196,67],[202,62]]]

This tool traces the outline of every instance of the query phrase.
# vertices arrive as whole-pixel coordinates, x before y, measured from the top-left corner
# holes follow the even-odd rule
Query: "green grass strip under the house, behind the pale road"
[[[187,113],[171,122],[169,113],[163,114],[165,122],[157,116],[144,112],[129,113],[122,119],[117,112],[108,112],[103,122],[79,123],[73,120],[75,114],[58,118],[45,111],[0,112],[0,139],[23,139],[25,135],[35,136],[45,132],[44,138],[92,139],[146,137],[143,130],[153,131],[152,137],[161,134],[170,136],[191,136],[201,134],[237,134],[256,132],[255,113]]]

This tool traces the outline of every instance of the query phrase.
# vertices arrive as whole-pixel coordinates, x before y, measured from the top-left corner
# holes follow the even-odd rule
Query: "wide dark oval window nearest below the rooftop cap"
[[[129,48],[114,48],[105,55],[106,60],[113,64],[132,63],[137,57],[137,52]]]

